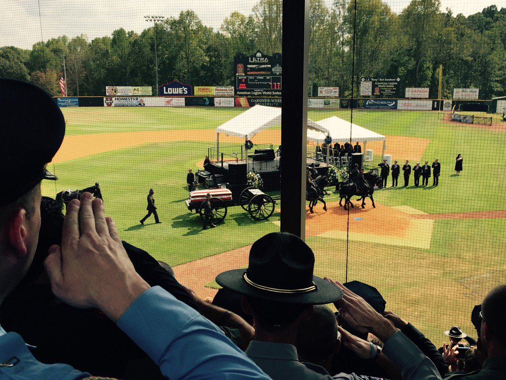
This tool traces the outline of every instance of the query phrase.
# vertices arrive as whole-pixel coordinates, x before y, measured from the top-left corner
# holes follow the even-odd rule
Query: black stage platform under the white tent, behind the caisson
[[[260,174],[262,180],[264,181],[264,189],[265,191],[276,191],[281,187],[280,184],[280,165],[281,158],[275,157],[274,160],[270,161],[253,161],[249,160],[237,160],[237,161],[223,161],[223,162],[213,162],[207,164],[205,166],[205,170],[211,174],[223,174],[225,180],[231,184],[240,183],[242,178],[232,177],[229,173],[229,164],[236,166],[238,164],[246,165],[246,172],[252,171],[255,169],[257,173]],[[311,165],[312,163],[316,166],[316,171],[320,175],[326,175],[329,166],[326,162],[321,162],[314,160],[312,158],[308,158],[306,160],[307,165]],[[284,162],[283,162],[284,165]],[[245,173],[244,173],[245,175]]]

